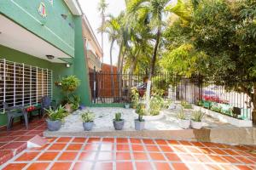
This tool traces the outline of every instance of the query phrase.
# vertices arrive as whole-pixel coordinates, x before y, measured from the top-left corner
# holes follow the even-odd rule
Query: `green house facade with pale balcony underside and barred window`
[[[9,105],[38,105],[48,95],[60,103],[55,82],[75,75],[77,94],[90,105],[90,83],[84,14],[76,0],[9,0],[0,2],[0,112]],[[91,31],[91,32],[90,32]],[[86,38],[87,36],[87,38]],[[96,58],[101,48],[94,47]],[[92,50],[90,50],[92,51]],[[96,60],[97,61],[97,60]],[[6,116],[0,114],[0,127]]]

